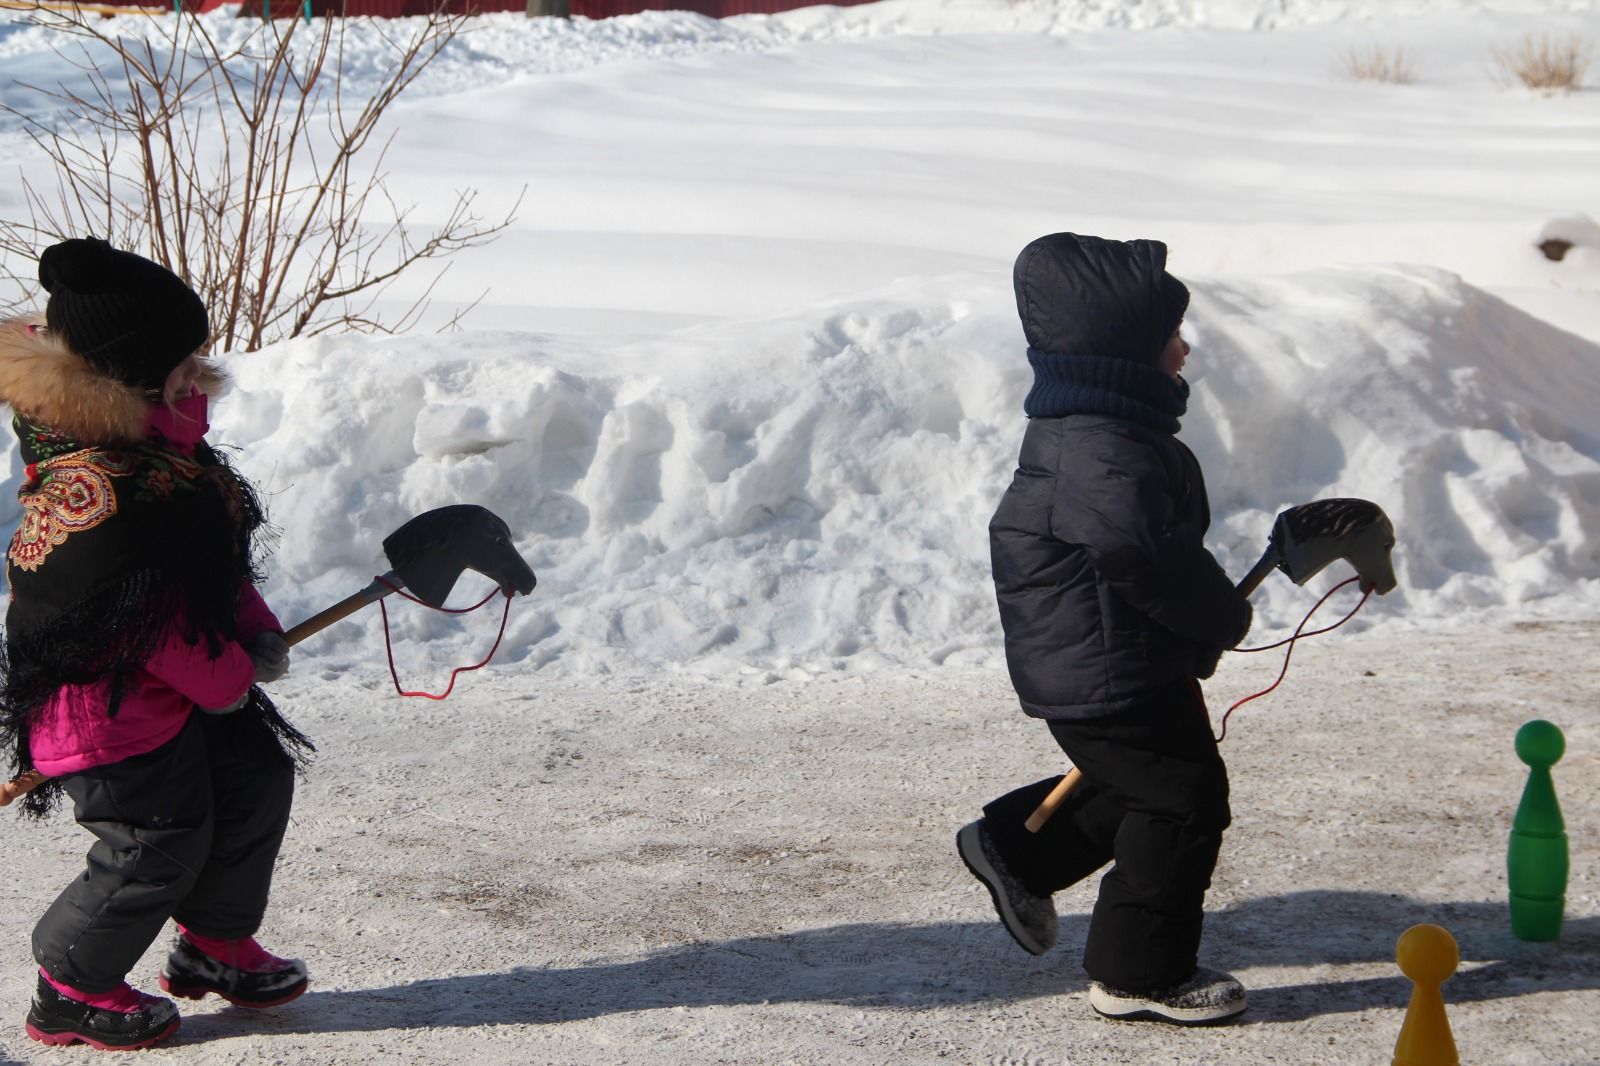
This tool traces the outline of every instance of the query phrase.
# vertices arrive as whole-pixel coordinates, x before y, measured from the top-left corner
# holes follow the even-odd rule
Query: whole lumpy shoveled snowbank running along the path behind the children
[[[1350,495],[1400,536],[1400,589],[1371,618],[1600,600],[1600,347],[1427,267],[1192,285],[1182,435],[1230,573],[1282,507]],[[539,573],[502,651],[539,669],[998,663],[986,525],[1029,384],[998,272],[614,346],[318,339],[230,365],[213,435],[272,493],[286,619],[384,570],[379,541],[410,515],[478,503]],[[454,599],[485,587],[469,575]],[[1258,602],[1264,632],[1312,592],[1274,578]],[[376,626],[312,650],[366,658]],[[403,643],[432,643],[406,661],[467,661],[491,629],[395,618]]]

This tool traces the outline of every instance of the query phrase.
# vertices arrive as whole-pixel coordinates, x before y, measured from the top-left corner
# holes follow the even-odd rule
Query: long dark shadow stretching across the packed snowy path
[[[186,1023],[192,1037],[237,1026],[261,1032],[371,1032],[440,1026],[539,1024],[664,1007],[840,1004],[918,1010],[1003,1004],[1082,991],[1078,954],[1088,916],[1066,916],[1061,943],[1034,959],[997,922],[854,924],[774,936],[690,943],[643,957],[502,973],[424,978],[389,988],[307,992],[280,1015],[221,1012]],[[1301,892],[1248,900],[1208,916],[1205,960],[1224,968],[1394,965],[1394,944],[1418,922],[1448,928],[1462,965],[1446,1004],[1531,992],[1600,989],[1600,919],[1570,919],[1562,940],[1515,940],[1504,904],[1421,903],[1362,892]],[[1411,984],[1392,976],[1304,984],[1253,981],[1248,1023],[1302,1021],[1405,1007]]]

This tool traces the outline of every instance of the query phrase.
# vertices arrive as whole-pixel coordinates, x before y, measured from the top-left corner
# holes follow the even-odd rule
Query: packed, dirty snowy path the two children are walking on
[[[322,741],[262,940],[314,988],[262,1015],[184,1005],[139,1063],[594,1066],[1349,1066],[1387,1063],[1410,983],[1395,938],[1448,928],[1462,1063],[1594,1066],[1600,1047],[1600,626],[1528,623],[1314,642],[1235,712],[1234,828],[1203,956],[1237,973],[1234,1026],[1090,1012],[1094,880],[1058,896],[1061,943],[1019,949],[954,836],[1061,755],[1003,674],[939,667],[770,685],[501,669],[450,703],[366,671],[277,688]],[[1267,661],[1262,661],[1267,659]],[[1275,656],[1232,658],[1213,714]],[[1526,768],[1510,738],[1560,722],[1573,844],[1566,925],[1514,940],[1506,840]],[[27,935],[82,868],[69,818],[8,824],[0,1063],[30,1044]],[[163,938],[134,970],[154,988]]]

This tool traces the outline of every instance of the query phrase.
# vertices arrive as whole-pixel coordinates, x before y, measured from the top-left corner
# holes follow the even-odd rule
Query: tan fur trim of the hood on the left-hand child
[[[227,378],[210,359],[202,363],[197,386],[216,399]],[[152,403],[144,389],[90,367],[38,317],[0,322],[0,402],[83,443],[142,440]]]

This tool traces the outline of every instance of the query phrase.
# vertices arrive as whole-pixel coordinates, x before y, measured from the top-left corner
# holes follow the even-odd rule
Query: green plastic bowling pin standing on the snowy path
[[[1510,884],[1510,932],[1518,940],[1555,940],[1566,906],[1566,823],[1555,802],[1550,767],[1566,752],[1552,722],[1534,719],[1517,730],[1517,757],[1528,763],[1528,784],[1510,824],[1506,880]]]

